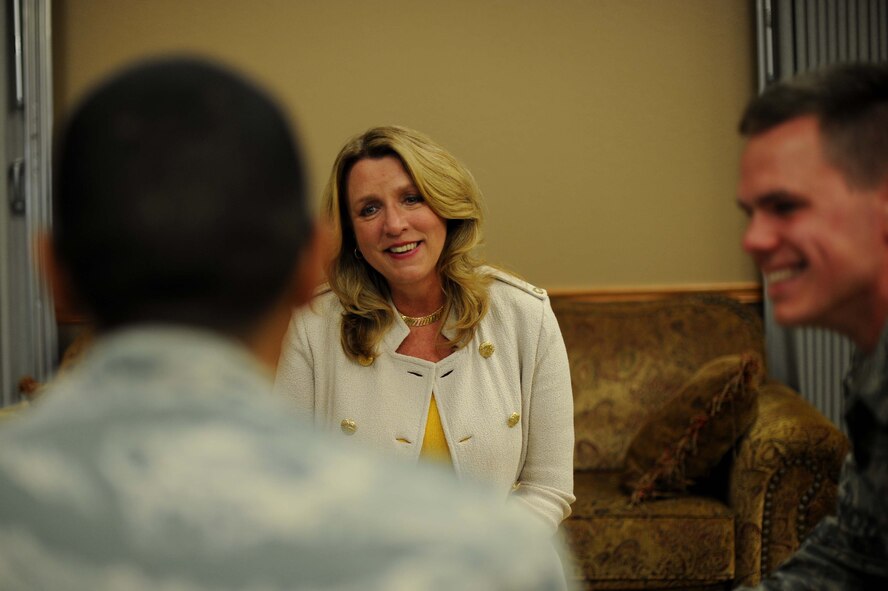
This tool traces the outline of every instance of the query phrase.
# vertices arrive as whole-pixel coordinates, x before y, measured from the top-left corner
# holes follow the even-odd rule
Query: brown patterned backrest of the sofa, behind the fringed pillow
[[[621,470],[647,415],[704,363],[763,355],[758,313],[724,296],[646,302],[554,297],[570,361],[577,470]]]

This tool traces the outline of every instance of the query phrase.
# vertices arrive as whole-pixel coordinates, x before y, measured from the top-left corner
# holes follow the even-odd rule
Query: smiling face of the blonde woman
[[[401,161],[364,158],[348,174],[348,215],[358,250],[393,291],[440,285],[447,225],[425,202]]]

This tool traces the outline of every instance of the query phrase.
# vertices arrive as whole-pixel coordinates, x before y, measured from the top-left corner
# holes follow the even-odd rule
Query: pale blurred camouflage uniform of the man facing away
[[[207,333],[99,340],[0,426],[0,587],[564,586],[518,509],[345,451],[270,392],[242,348]]]

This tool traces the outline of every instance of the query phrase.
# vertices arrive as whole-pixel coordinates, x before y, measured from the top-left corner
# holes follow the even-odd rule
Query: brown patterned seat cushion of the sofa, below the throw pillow
[[[564,522],[576,578],[595,588],[705,586],[734,577],[734,513],[706,497],[632,506],[620,472],[577,472]]]

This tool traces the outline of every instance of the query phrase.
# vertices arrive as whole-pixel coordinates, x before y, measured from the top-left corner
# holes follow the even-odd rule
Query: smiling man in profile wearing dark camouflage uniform
[[[857,346],[845,379],[853,451],[836,517],[762,589],[872,589],[888,581],[888,67],[852,64],[778,84],[740,123],[743,248],[774,315]]]

